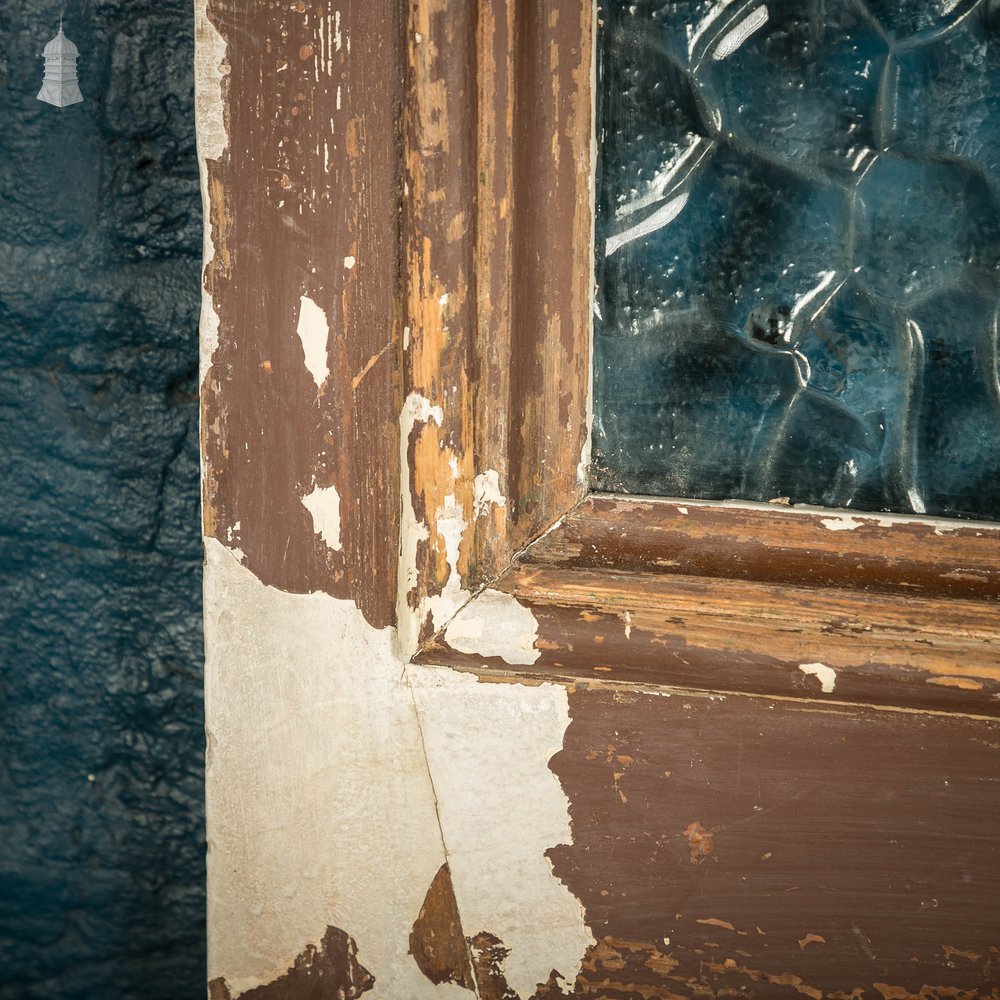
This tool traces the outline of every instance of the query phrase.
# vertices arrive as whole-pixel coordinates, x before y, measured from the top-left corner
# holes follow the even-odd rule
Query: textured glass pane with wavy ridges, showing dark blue
[[[602,20],[595,487],[1000,518],[1000,2]]]

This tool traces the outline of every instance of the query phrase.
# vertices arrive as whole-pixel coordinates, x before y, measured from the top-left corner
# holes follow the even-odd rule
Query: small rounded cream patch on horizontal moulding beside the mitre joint
[[[502,590],[484,590],[448,623],[445,641],[460,653],[499,656],[505,663],[534,663],[538,622]]]

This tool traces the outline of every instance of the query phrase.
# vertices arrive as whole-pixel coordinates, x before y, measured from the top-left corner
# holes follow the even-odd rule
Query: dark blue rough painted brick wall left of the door
[[[188,0],[0,0],[4,1000],[204,988],[192,53]]]

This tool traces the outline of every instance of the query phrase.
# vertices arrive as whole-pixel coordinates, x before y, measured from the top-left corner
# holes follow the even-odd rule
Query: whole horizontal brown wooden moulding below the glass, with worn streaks
[[[531,676],[1000,715],[1000,532],[850,518],[591,497],[493,586]],[[510,669],[447,631],[421,659]]]

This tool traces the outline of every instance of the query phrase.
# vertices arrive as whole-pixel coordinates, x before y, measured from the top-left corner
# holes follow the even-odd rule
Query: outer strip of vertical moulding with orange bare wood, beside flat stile
[[[403,395],[439,414],[415,424],[407,442],[406,500],[423,531],[407,567],[412,586],[400,600],[417,612],[418,639],[434,627],[422,602],[453,575],[457,588],[469,567],[471,538],[461,526],[473,520],[468,368],[476,284],[473,243],[453,237],[456,217],[471,217],[476,192],[475,28],[475,5],[406,4]],[[449,545],[457,548],[451,559]]]

